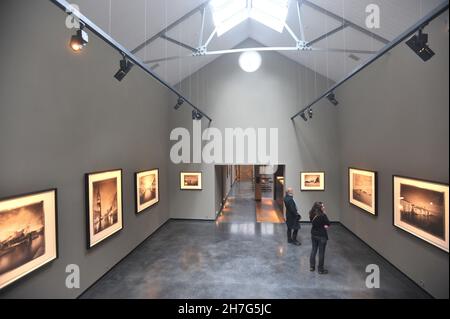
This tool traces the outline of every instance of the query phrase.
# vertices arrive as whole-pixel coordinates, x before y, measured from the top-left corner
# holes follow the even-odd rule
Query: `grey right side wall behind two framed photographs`
[[[449,256],[392,222],[392,175],[448,184],[448,11],[425,29],[436,56],[405,44],[337,91],[341,222],[435,297],[449,296]],[[348,204],[348,167],[378,171],[379,216]]]

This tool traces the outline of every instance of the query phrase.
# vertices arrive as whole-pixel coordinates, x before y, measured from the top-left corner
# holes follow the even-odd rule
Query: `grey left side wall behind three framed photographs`
[[[1,298],[76,297],[169,218],[168,92],[138,68],[117,82],[120,55],[92,34],[73,54],[65,19],[48,0],[1,2],[0,197],[58,188],[59,233],[59,258]],[[136,216],[133,174],[154,167],[161,201]],[[124,229],[87,251],[84,174],[115,168]],[[68,264],[81,289],[65,287]]]

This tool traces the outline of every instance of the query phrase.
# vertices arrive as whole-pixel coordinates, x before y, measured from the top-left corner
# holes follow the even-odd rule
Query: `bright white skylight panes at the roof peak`
[[[211,0],[217,36],[221,36],[251,18],[283,32],[290,0]]]

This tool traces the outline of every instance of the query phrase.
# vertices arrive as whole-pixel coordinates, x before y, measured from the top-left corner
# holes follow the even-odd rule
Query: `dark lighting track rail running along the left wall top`
[[[212,122],[212,119],[205,114],[202,110],[200,110],[197,106],[195,106],[189,99],[183,96],[177,89],[175,89],[172,85],[161,79],[156,73],[153,72],[151,68],[146,66],[142,61],[136,57],[133,53],[131,53],[128,49],[126,49],[124,46],[122,46],[120,43],[118,43],[116,40],[114,40],[110,35],[108,35],[105,31],[103,31],[99,26],[97,26],[94,22],[89,20],[87,17],[85,17],[82,13],[80,13],[77,10],[74,10],[72,5],[65,1],[65,0],[50,0],[52,3],[57,5],[59,8],[67,12],[68,14],[72,14],[74,17],[76,17],[81,23],[84,24],[85,28],[89,29],[91,32],[96,34],[99,38],[101,38],[103,41],[108,43],[111,47],[119,51],[119,53],[126,57],[129,61],[131,61],[134,65],[140,67],[144,72],[149,74],[151,77],[156,79],[159,83],[161,83],[163,86],[168,88],[170,91],[175,93],[178,98],[183,99],[183,101],[187,104],[189,104],[194,110],[202,114],[206,119],[209,120],[209,122]],[[115,67],[115,66],[114,66]]]

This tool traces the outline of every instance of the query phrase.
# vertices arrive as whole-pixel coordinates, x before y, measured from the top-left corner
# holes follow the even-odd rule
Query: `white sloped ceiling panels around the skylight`
[[[114,39],[133,50],[145,40],[164,30],[173,22],[205,3],[206,0],[78,0],[81,12],[94,23],[108,32]],[[287,19],[291,29],[299,35],[300,27],[295,5],[291,0],[291,8]],[[302,4],[301,14],[305,28],[306,41],[337,28],[342,24],[335,17],[330,17],[314,5],[365,27],[366,6],[377,4],[381,9],[380,29],[370,30],[388,41],[405,31],[439,4],[447,0],[309,0],[312,5]],[[308,1],[307,1],[308,2]],[[167,36],[194,48],[199,46],[201,26],[200,11],[167,32]],[[209,8],[206,11],[204,41],[214,30]],[[295,46],[289,33],[277,33],[272,29],[252,20],[247,20],[219,38],[214,38],[208,47],[209,51],[231,49],[251,38],[262,46]],[[347,27],[317,43],[314,47],[355,49],[378,51],[385,43],[368,36],[353,27]],[[171,56],[186,56],[188,49],[157,39],[137,52],[143,61],[155,60]],[[307,66],[317,73],[338,81],[353,71],[371,55],[354,54],[358,61],[349,57],[350,53],[336,52],[280,52],[288,58]],[[177,60],[151,63],[155,72],[171,84],[176,84],[193,74],[218,56],[188,57]]]

